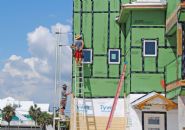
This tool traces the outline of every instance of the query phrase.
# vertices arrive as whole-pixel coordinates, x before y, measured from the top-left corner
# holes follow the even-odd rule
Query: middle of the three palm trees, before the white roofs
[[[31,106],[29,109],[29,115],[32,117],[32,119],[35,121],[35,129],[36,129],[36,125],[37,125],[37,120],[39,118],[41,114],[41,110],[40,107],[37,107],[36,104],[34,104],[34,106]]]

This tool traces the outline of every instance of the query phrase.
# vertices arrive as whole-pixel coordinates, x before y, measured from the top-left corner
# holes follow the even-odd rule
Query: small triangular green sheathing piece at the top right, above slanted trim
[[[177,9],[177,6],[180,3],[180,0],[167,0],[167,18]]]

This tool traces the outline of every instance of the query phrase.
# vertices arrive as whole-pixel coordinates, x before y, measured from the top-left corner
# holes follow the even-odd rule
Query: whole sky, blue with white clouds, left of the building
[[[0,98],[53,104],[56,30],[72,32],[72,0],[0,1]],[[69,43],[69,35],[61,41]],[[61,50],[70,84],[71,51]]]

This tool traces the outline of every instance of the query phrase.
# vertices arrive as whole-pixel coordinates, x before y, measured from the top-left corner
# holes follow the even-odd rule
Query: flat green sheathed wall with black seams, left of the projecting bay
[[[115,22],[116,16],[119,15],[120,2],[120,0],[74,0],[74,33],[79,34],[81,30],[85,48],[92,48],[93,51],[93,63],[84,64],[84,85],[85,92],[88,93],[86,96],[113,97],[116,93],[125,50],[124,36]],[[111,12],[108,12],[109,10]],[[121,63],[109,65],[108,49],[114,48],[121,50]],[[73,92],[74,67],[73,65]]]

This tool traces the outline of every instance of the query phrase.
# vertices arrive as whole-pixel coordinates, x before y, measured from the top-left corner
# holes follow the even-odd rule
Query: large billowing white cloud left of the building
[[[59,30],[62,35],[56,37]],[[12,96],[17,99],[53,103],[56,42],[69,44],[69,25],[57,23],[47,28],[39,26],[27,34],[30,57],[11,55],[0,71],[0,98]],[[71,49],[59,48],[59,74],[62,83],[70,83]]]

